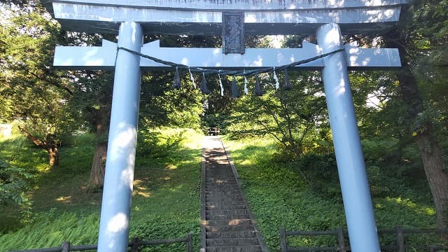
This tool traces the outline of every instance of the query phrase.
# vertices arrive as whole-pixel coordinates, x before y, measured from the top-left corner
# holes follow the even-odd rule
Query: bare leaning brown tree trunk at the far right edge
[[[405,11],[405,10],[403,10]],[[405,18],[410,18],[405,16]],[[405,20],[402,17],[402,20]],[[405,20],[403,22],[411,22]],[[444,169],[444,160],[437,136],[433,132],[430,120],[423,120],[421,113],[424,112],[423,99],[419,92],[416,78],[412,72],[412,41],[408,41],[408,36],[404,27],[398,27],[384,37],[388,48],[398,48],[400,51],[402,67],[398,70],[397,78],[400,81],[400,91],[403,102],[407,105],[408,116],[411,122],[419,125],[417,129],[412,129],[416,144],[419,146],[419,153],[423,161],[423,169],[426,174],[428,185],[433,195],[435,210],[437,211],[437,227],[448,228],[448,174]],[[406,48],[407,47],[407,48]],[[416,57],[414,53],[414,57]]]

